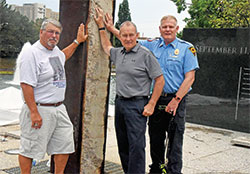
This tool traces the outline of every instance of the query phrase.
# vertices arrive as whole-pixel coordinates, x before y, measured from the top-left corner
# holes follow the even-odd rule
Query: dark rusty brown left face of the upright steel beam
[[[60,0],[59,21],[63,31],[58,46],[63,49],[76,38],[78,26],[86,24],[88,19],[89,0]],[[65,64],[67,89],[65,105],[74,125],[75,153],[71,154],[65,173],[79,173],[82,142],[82,96],[86,75],[87,44],[82,43]],[[53,159],[53,157],[52,157]],[[51,171],[54,170],[51,160]]]

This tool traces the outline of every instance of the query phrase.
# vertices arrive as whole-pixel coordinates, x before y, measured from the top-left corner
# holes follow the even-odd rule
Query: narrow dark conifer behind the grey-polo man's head
[[[122,3],[119,5],[118,21],[115,23],[115,27],[117,29],[120,29],[121,24],[125,21],[131,21],[128,0],[123,0]],[[122,44],[119,39],[115,37],[113,45],[119,47]]]

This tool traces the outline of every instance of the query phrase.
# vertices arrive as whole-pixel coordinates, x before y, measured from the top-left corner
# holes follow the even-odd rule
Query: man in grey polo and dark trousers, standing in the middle
[[[96,8],[102,47],[116,66],[115,130],[124,173],[145,174],[145,132],[147,116],[154,112],[164,78],[159,63],[145,47],[136,43],[134,23],[121,25],[123,47],[113,48],[104,28],[103,11]],[[150,100],[150,87],[155,80]]]

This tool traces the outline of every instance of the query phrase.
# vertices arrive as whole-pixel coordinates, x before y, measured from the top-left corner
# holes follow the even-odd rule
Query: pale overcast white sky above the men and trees
[[[123,0],[116,0],[116,16],[119,4]],[[189,0],[190,1],[190,0]],[[188,1],[188,2],[189,2]],[[46,8],[59,11],[60,0],[6,0],[8,4],[23,5],[23,3],[42,3]],[[185,27],[183,19],[189,17],[187,11],[177,13],[175,4],[170,0],[128,0],[132,21],[137,25],[140,36],[159,36],[160,19],[164,15],[174,15],[178,19],[178,24],[182,30]],[[117,17],[115,17],[115,20]]]

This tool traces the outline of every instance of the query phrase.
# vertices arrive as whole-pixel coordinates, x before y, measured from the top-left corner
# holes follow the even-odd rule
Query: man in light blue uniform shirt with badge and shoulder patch
[[[119,38],[112,17],[106,14],[105,19],[107,29]],[[182,169],[186,95],[191,90],[199,65],[193,45],[176,37],[178,29],[174,16],[164,16],[159,26],[161,37],[140,41],[157,58],[165,79],[163,93],[154,114],[149,118],[150,154],[153,162],[150,173],[161,173],[159,165],[165,163],[166,132],[169,138],[168,173],[181,174]],[[170,122],[171,117],[174,118],[173,123]]]

